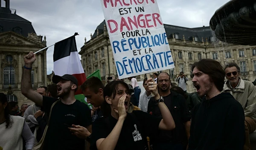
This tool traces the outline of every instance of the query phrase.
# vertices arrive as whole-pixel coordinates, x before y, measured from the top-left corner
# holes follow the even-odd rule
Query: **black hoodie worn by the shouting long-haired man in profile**
[[[244,110],[230,93],[195,106],[189,150],[243,150],[244,136]]]

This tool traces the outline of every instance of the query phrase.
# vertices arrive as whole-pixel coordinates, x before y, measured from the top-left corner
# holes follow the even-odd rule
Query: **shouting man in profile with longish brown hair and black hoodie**
[[[202,102],[192,111],[189,150],[243,150],[244,110],[230,93],[221,93],[225,72],[213,59],[192,65]]]

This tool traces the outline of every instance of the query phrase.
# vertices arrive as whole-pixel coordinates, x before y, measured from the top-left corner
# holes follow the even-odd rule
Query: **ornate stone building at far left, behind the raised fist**
[[[28,20],[8,5],[0,8],[0,92],[7,94],[9,101],[17,101],[19,106],[33,104],[20,91],[24,56],[45,47],[46,37],[38,36]],[[31,76],[35,90],[47,86],[46,50],[36,54]]]

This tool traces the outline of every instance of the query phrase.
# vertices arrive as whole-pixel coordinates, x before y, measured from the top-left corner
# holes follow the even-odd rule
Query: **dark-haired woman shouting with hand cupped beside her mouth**
[[[157,84],[148,79],[148,88],[162,113],[156,118],[135,110],[127,113],[130,101],[129,87],[125,82],[113,81],[104,88],[105,102],[102,105],[104,117],[93,124],[91,149],[93,150],[148,150],[147,136],[160,130],[173,130],[175,122],[157,91]]]

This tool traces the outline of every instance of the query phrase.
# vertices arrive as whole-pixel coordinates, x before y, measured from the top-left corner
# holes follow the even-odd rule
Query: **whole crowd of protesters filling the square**
[[[213,59],[192,65],[197,92],[187,93],[180,72],[177,86],[166,72],[143,80],[109,82],[90,77],[75,98],[78,80],[53,76],[52,85],[31,85],[35,54],[24,57],[21,92],[34,105],[7,102],[0,93],[0,150],[250,150],[256,130],[256,88],[239,77],[236,63],[224,68]],[[225,77],[227,81],[225,80]]]

